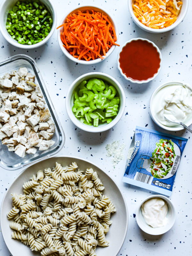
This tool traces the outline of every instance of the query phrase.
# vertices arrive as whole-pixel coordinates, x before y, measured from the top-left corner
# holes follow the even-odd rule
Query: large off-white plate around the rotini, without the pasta
[[[32,252],[30,250],[30,247],[22,244],[20,241],[11,238],[12,230],[9,227],[10,221],[7,220],[7,212],[9,212],[12,208],[11,193],[23,193],[22,185],[24,182],[28,181],[33,174],[36,174],[38,170],[44,170],[48,167],[54,167],[55,162],[60,163],[62,166],[66,166],[71,164],[72,162],[76,162],[80,169],[86,170],[87,168],[93,168],[93,170],[98,173],[98,176],[105,187],[104,195],[108,196],[111,199],[116,207],[116,212],[111,216],[111,220],[113,221],[113,223],[110,226],[108,234],[106,235],[107,241],[109,241],[110,244],[108,247],[98,247],[97,256],[116,256],[123,245],[128,228],[128,210],[126,202],[124,200],[124,196],[116,185],[115,181],[112,180],[111,177],[108,176],[108,174],[106,174],[104,171],[102,171],[99,167],[92,164],[91,162],[73,156],[51,157],[42,162],[34,164],[21,172],[20,175],[14,180],[12,185],[7,189],[1,205],[0,223],[2,235],[9,251],[12,253],[13,256],[40,256],[40,253]]]

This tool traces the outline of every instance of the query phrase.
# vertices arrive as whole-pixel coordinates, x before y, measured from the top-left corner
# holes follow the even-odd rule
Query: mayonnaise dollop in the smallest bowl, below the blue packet
[[[148,225],[153,228],[167,224],[167,203],[159,197],[153,197],[141,205],[141,212]]]

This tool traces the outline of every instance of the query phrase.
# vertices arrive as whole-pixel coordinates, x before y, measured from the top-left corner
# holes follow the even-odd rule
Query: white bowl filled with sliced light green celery
[[[125,109],[125,95],[112,76],[91,72],[69,87],[66,110],[71,121],[87,132],[103,132],[118,123]]]

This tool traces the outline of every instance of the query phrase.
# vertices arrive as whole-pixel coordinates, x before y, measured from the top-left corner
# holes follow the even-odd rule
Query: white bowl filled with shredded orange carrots
[[[73,9],[62,18],[57,29],[62,52],[77,63],[96,64],[118,45],[115,20],[97,6]]]

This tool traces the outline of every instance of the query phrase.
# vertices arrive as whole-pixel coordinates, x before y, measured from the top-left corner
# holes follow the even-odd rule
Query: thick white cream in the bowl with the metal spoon
[[[192,118],[192,89],[185,84],[174,83],[161,88],[152,101],[153,113],[165,126],[175,126],[165,119],[186,122]]]

